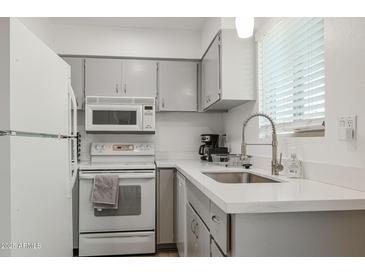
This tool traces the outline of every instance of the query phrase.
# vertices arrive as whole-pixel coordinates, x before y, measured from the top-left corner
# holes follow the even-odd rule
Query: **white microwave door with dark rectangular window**
[[[87,105],[86,131],[137,132],[143,130],[141,105]]]

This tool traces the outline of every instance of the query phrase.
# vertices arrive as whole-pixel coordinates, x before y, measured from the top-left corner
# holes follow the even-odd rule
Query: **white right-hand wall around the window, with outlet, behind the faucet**
[[[262,25],[264,26],[264,25]],[[306,177],[340,183],[365,189],[365,18],[325,19],[326,64],[326,134],[325,137],[280,138],[280,151],[289,155],[289,147],[297,147],[299,157],[307,165]],[[257,103],[248,103],[232,109],[224,117],[232,152],[238,153],[241,128],[244,119],[257,111]],[[357,141],[353,143],[337,139],[337,118],[342,115],[358,115]],[[246,131],[247,140],[258,140],[258,120],[252,120]],[[248,147],[248,153],[271,157],[269,147]],[[260,158],[260,157],[258,157]],[[265,162],[269,168],[269,162]],[[328,174],[323,174],[323,168]],[[350,170],[350,174],[339,170]],[[321,173],[319,175],[319,173]],[[355,176],[356,175],[356,176]],[[311,178],[312,177],[312,178]],[[314,178],[313,178],[314,177]],[[344,181],[345,182],[342,182]]]

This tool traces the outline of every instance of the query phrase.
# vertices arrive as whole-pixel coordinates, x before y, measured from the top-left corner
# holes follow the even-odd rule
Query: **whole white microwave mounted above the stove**
[[[90,133],[155,133],[155,98],[87,96],[85,130]]]

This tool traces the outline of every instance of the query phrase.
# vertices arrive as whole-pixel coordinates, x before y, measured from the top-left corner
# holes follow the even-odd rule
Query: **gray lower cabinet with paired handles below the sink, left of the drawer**
[[[210,234],[190,204],[186,207],[187,256],[209,257]]]

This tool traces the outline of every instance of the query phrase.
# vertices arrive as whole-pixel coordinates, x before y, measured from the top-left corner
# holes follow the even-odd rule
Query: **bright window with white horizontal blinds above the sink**
[[[258,43],[260,111],[279,133],[324,129],[323,18],[285,18]],[[260,135],[270,131],[260,118]]]

